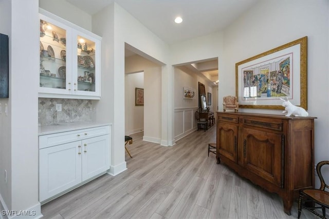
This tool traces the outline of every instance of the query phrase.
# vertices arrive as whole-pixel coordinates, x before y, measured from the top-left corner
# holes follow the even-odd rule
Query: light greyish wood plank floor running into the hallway
[[[105,174],[41,207],[44,218],[297,218],[281,198],[208,157],[216,130],[195,131],[172,147],[131,135],[128,170]],[[301,218],[316,218],[302,211]]]

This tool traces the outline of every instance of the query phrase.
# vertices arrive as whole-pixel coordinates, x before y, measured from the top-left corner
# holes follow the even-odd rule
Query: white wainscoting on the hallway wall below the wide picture
[[[194,116],[196,111],[196,107],[176,108],[174,110],[175,141],[196,130],[196,120]]]

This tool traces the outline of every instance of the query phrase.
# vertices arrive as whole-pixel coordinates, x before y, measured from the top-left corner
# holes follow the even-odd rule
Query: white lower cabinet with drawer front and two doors
[[[95,129],[99,129],[97,127]],[[39,145],[39,201],[43,202],[109,169],[109,127],[101,127],[108,133],[95,136],[95,129],[39,136],[41,142],[53,138],[76,135],[78,141],[44,147]],[[88,136],[94,136],[89,137]],[[47,141],[48,140],[48,141]],[[49,141],[50,140],[50,141]],[[50,144],[51,145],[51,144]]]

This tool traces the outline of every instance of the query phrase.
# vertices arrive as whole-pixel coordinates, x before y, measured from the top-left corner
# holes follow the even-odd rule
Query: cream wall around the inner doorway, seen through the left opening
[[[161,142],[161,66],[140,55],[125,59],[125,72],[144,72],[143,140]],[[129,109],[126,109],[126,111]]]

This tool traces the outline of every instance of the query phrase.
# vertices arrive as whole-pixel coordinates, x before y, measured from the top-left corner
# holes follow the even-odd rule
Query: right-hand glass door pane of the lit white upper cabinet
[[[92,39],[77,35],[77,89],[95,92],[96,43]]]

